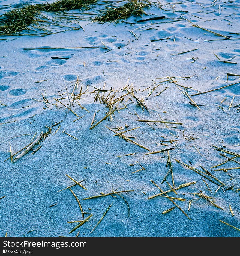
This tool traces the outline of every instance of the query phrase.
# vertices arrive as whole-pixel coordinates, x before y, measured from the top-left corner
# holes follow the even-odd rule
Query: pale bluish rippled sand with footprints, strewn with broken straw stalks
[[[17,1],[0,1],[3,7],[1,13],[8,10],[3,5],[14,2]],[[37,2],[32,1],[32,3]],[[227,73],[240,72],[239,39],[222,40],[225,38],[194,27],[185,20],[191,20],[200,27],[230,36],[230,39],[239,38],[238,34],[230,34],[239,33],[239,1],[213,3],[206,0],[200,2],[183,0],[161,1],[161,4],[163,9],[169,11],[152,7],[145,9],[149,15],[143,18],[152,17],[152,14],[165,15],[163,20],[137,23],[136,20],[141,18],[135,16],[127,20],[134,24],[124,22],[99,24],[80,20],[85,31],[69,30],[44,37],[0,37],[0,39],[15,38],[11,41],[0,40],[0,103],[7,105],[0,105],[0,198],[6,195],[5,198],[0,199],[1,236],[5,236],[6,232],[7,236],[76,236],[78,231],[81,237],[238,237],[240,235],[238,230],[219,221],[223,220],[240,228],[240,198],[239,192],[236,193],[240,188],[240,169],[232,169],[228,172],[214,171],[223,167],[239,167],[239,164],[230,161],[211,169],[212,166],[227,160],[219,155],[224,152],[214,150],[212,145],[240,154],[240,147],[236,146],[240,143],[240,113],[237,110],[239,107],[234,108],[240,103],[239,84],[207,94],[190,96],[201,110],[191,105],[190,100],[184,97],[176,84],[169,83],[171,80],[161,83],[148,96],[148,87],[151,92],[159,82],[167,80],[167,76],[173,77],[177,84],[193,87],[200,92],[240,82],[238,76],[229,76],[227,81]],[[97,13],[96,10],[100,7],[94,8],[90,11]],[[106,49],[103,43],[111,51]],[[23,49],[93,45],[98,48],[29,51]],[[178,54],[196,48],[199,49]],[[221,61],[218,61],[214,53]],[[194,61],[196,58],[197,60]],[[60,93],[63,93],[65,90],[61,75],[70,94],[78,75],[81,81],[76,89],[77,93],[80,92],[81,86],[85,91],[89,85],[88,90],[91,92],[94,90],[91,86],[103,88],[106,83],[106,90],[110,88],[119,90],[116,97],[127,93],[120,89],[124,88],[129,78],[128,84],[133,84],[136,90],[134,94],[139,99],[143,97],[150,114],[146,109],[143,111],[139,105],[136,105],[132,95],[127,95],[124,101],[119,103],[118,108],[124,108],[123,103],[128,97],[132,101],[128,99],[125,103],[128,104],[127,109],[115,111],[114,121],[106,119],[89,130],[95,110],[99,110],[95,117],[98,122],[109,109],[99,101],[93,102],[97,93],[82,95],[80,104],[90,113],[74,103],[72,110],[79,116],[85,116],[73,122],[77,117],[72,112],[60,103],[57,107],[53,105],[56,103],[53,98],[61,98],[58,91],[62,90]],[[42,82],[36,83],[37,81]],[[159,96],[155,96],[165,87],[168,88]],[[179,88],[184,90],[183,87]],[[44,89],[50,102],[49,107],[42,102],[41,93],[44,94]],[[146,90],[143,91],[144,89]],[[189,95],[197,93],[196,90],[188,88]],[[100,98],[102,95],[101,92]],[[229,110],[233,96],[235,97]],[[227,98],[220,103],[225,97]],[[68,99],[63,99],[62,102],[68,104]],[[149,123],[153,129],[145,122],[136,121],[137,119],[161,121],[159,115],[163,120],[174,120],[172,122],[180,122],[182,125],[167,124],[169,127],[167,128],[164,123],[156,123],[156,125]],[[16,163],[11,163],[10,160],[4,162],[10,156],[9,142],[14,154],[28,145],[35,133],[37,137],[41,131],[47,131],[45,126],[60,121],[62,121],[59,124],[61,127],[57,133],[54,134],[59,125],[52,128],[52,134],[40,143],[42,147],[35,154],[32,155],[30,151]],[[125,128],[125,125],[128,128]],[[148,200],[149,196],[160,193],[150,180],[163,190],[170,189],[166,182],[161,184],[169,169],[166,168],[167,152],[145,155],[148,153],[147,150],[118,136],[113,137],[114,133],[106,126],[111,129],[123,126],[122,131],[140,126],[139,129],[124,135],[136,137],[132,140],[151,151],[175,148],[169,151],[175,187],[191,181],[196,181],[196,184],[179,189],[176,191],[177,195],[169,192],[168,196],[186,199],[174,200],[174,202],[188,214],[191,220],[177,207],[169,213],[162,214],[163,211],[174,206],[168,198],[158,196]],[[64,129],[78,140],[62,133]],[[184,138],[183,131],[188,139]],[[175,141],[170,143],[170,140]],[[34,148],[37,147],[36,145]],[[130,153],[137,154],[124,156]],[[210,192],[202,176],[180,165],[175,159],[199,170],[202,170],[199,167],[202,165],[226,185],[222,186],[223,188],[232,185],[234,187],[226,192],[220,188],[214,194],[218,185],[203,178],[211,189]],[[237,161],[238,159],[235,158]],[[132,173],[142,169],[140,164],[144,169]],[[77,181],[85,180],[81,184],[87,190],[78,185],[72,187],[72,190],[79,198],[83,211],[93,214],[88,222],[69,235],[68,233],[78,223],[67,223],[67,221],[82,220],[82,214],[69,189],[57,192],[74,184],[65,174]],[[167,181],[171,186],[173,185],[171,175],[167,177]],[[110,193],[115,190],[134,190],[134,192],[121,193],[129,204],[130,214],[126,202],[118,195],[82,200],[89,196],[100,195],[101,192]],[[215,207],[203,198],[197,200],[199,197],[192,193],[203,193],[215,198],[215,204],[223,209]],[[188,211],[189,200],[192,202]],[[90,233],[112,202],[103,220]],[[56,205],[49,208],[53,204]],[[234,216],[230,213],[229,204]],[[85,214],[85,218],[87,216],[89,214]],[[32,232],[28,233],[28,231]]]

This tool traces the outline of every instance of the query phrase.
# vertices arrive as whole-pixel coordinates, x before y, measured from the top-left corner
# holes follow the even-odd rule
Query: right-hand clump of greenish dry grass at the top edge
[[[127,19],[132,15],[142,16],[146,14],[143,8],[150,7],[151,3],[149,1],[141,0],[129,0],[127,3],[119,7],[109,7],[104,10],[101,16],[96,17],[94,21],[104,23],[104,22],[118,22],[120,19]]]

